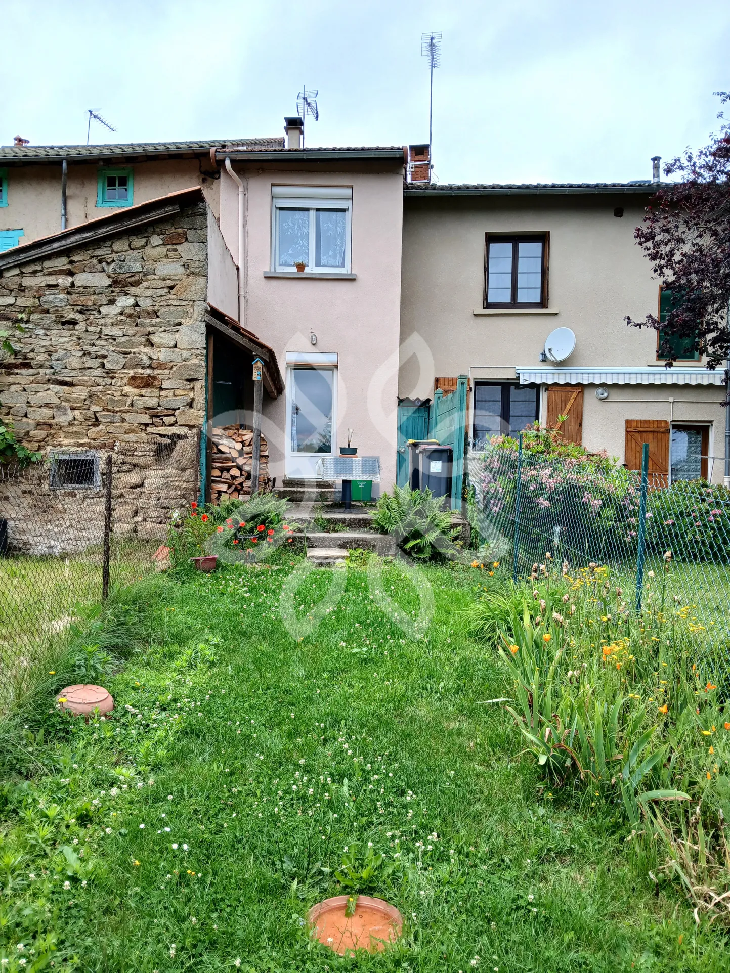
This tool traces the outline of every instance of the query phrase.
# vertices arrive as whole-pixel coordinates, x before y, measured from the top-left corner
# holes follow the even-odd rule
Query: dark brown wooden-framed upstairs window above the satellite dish
[[[547,307],[550,234],[485,234],[485,307]]]

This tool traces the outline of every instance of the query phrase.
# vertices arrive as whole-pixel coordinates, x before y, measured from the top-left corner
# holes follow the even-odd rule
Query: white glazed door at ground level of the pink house
[[[286,381],[286,476],[317,480],[316,465],[334,455],[337,369],[295,365]]]

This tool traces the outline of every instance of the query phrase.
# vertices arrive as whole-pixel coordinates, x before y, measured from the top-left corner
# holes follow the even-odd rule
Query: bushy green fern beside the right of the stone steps
[[[440,497],[425,489],[393,486],[392,495],[383,493],[373,513],[373,523],[383,534],[391,534],[412,558],[427,559],[436,552],[448,557],[455,551],[451,512],[442,507]]]

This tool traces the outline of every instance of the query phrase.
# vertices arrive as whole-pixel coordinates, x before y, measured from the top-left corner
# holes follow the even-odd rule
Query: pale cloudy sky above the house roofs
[[[282,134],[318,89],[308,145],[428,140],[459,182],[649,178],[708,140],[730,90],[727,0],[0,0],[0,143]],[[11,53],[12,55],[8,55]]]

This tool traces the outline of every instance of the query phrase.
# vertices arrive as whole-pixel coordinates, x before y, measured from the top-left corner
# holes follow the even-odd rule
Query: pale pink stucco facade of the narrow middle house
[[[274,348],[282,373],[287,353],[337,354],[334,446],[347,446],[347,429],[353,429],[352,446],[359,456],[380,457],[381,488],[389,489],[396,458],[403,166],[234,167],[246,189],[244,326]],[[272,270],[273,186],[310,187],[313,198],[320,187],[351,188],[353,276],[265,276]],[[221,230],[236,257],[238,190],[225,169],[220,194]],[[290,389],[290,375],[285,379]],[[290,405],[287,395],[264,403],[262,429],[277,484],[293,476],[285,456]]]

